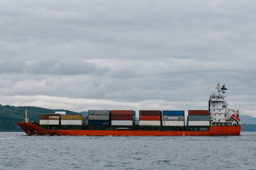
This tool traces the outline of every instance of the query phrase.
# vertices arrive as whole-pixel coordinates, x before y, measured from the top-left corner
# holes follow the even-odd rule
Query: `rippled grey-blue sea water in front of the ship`
[[[0,132],[0,170],[256,169],[256,132],[240,136],[40,136]]]

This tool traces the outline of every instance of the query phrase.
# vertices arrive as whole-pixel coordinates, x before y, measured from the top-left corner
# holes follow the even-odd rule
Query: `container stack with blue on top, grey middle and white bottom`
[[[164,110],[163,126],[184,126],[184,111]]]

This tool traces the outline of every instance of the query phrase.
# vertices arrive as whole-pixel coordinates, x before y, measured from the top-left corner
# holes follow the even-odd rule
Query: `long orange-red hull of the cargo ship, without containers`
[[[94,135],[94,136],[215,136],[240,135],[241,126],[211,126],[207,131],[153,130],[48,130],[35,124],[17,122],[28,135]]]

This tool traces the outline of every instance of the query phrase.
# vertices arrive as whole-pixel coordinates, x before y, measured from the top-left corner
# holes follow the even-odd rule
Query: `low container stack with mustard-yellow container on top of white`
[[[61,125],[87,125],[87,116],[61,115]]]

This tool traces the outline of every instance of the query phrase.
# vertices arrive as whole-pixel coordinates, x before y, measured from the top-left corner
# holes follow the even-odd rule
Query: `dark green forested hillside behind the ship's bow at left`
[[[16,122],[25,121],[25,109],[28,110],[29,121],[39,121],[39,115],[55,113],[55,111],[66,112],[69,115],[80,115],[80,113],[68,110],[45,109],[33,106],[2,106],[0,105],[0,131],[22,131]]]

